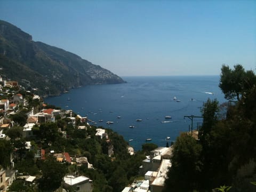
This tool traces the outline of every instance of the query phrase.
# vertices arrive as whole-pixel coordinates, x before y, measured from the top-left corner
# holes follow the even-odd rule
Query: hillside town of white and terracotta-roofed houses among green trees
[[[115,139],[111,139],[109,135],[113,133],[103,127],[94,127],[87,117],[77,115],[70,109],[63,110],[44,103],[43,99],[35,94],[36,89],[33,89],[34,92],[26,91],[17,81],[5,81],[2,77],[0,84],[0,191],[98,191],[94,188],[97,185],[95,178],[84,174],[88,170],[101,172],[100,166],[94,165],[101,160],[91,160],[91,151],[96,149],[86,149],[82,153],[77,147],[73,149],[72,146],[65,147],[57,142],[72,142],[76,137],[83,141],[96,138],[100,143],[100,153],[109,157],[108,163],[114,164],[118,161],[118,147],[115,146]],[[11,146],[8,146],[10,143]],[[129,156],[137,155],[131,146],[126,143],[124,146],[125,153]],[[130,184],[124,182],[119,189],[113,191],[162,191],[166,173],[171,166],[172,149],[169,146],[157,147],[150,149],[147,154],[144,153],[139,158],[140,166],[135,169],[137,171],[131,173],[135,177],[130,179]],[[28,164],[29,161],[32,163]],[[42,162],[65,165],[65,171],[56,167],[52,167],[52,172],[47,170],[50,167],[41,170],[39,167],[45,169],[40,165]],[[80,169],[86,171],[83,173]],[[61,178],[52,177],[51,174],[56,171],[61,172]],[[55,186],[42,187],[45,181],[50,181],[46,177],[59,182]]]

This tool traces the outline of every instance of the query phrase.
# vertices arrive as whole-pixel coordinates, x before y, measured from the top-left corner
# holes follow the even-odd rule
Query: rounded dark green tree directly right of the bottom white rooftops
[[[193,191],[198,189],[201,174],[202,146],[187,133],[182,133],[175,142],[172,166],[167,173],[164,191]]]

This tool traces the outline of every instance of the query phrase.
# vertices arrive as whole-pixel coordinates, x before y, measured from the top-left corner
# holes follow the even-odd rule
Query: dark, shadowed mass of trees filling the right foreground
[[[165,191],[256,191],[255,84],[252,70],[222,66],[219,86],[230,100],[227,115],[220,118],[217,100],[204,103],[198,140],[184,133],[174,144]]]

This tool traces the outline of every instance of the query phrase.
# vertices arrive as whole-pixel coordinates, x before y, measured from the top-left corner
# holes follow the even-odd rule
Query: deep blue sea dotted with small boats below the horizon
[[[122,78],[127,83],[84,86],[58,97],[45,98],[45,102],[72,109],[95,121],[95,126],[116,131],[135,150],[140,150],[145,142],[158,146],[169,142],[170,145],[191,126],[190,119],[184,116],[201,116],[201,108],[208,98],[217,99],[220,104],[226,102],[218,86],[219,76]],[[165,116],[172,118],[165,119]],[[107,124],[107,121],[114,123]],[[202,118],[194,118],[193,127],[200,123]],[[146,141],[148,138],[151,141]]]

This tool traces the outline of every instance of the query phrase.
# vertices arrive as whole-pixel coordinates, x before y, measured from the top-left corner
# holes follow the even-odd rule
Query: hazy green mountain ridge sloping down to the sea
[[[74,53],[33,41],[31,35],[2,20],[0,75],[19,81],[28,90],[38,89],[41,95],[58,95],[84,85],[125,83]]]

